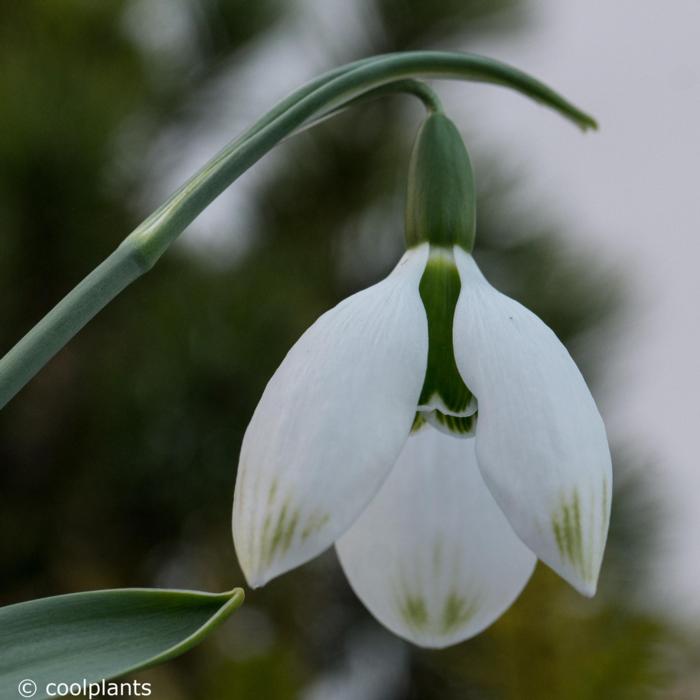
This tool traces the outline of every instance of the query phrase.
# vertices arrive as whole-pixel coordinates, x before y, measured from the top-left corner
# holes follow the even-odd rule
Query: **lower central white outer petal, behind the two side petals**
[[[408,438],[336,549],[354,591],[380,622],[436,648],[500,617],[536,562],[484,484],[474,439],[430,426]]]

